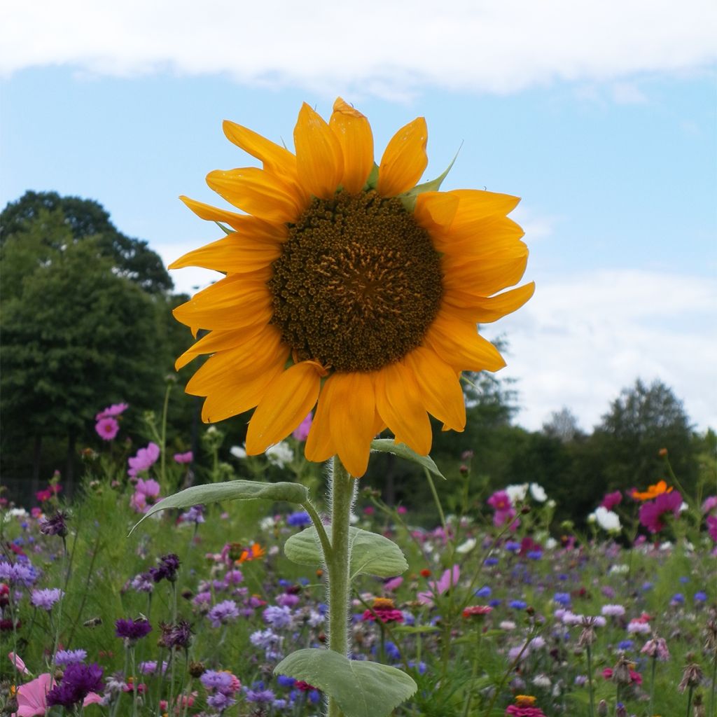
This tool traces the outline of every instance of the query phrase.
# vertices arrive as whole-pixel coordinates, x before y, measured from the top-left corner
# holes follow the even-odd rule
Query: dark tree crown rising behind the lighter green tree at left
[[[58,217],[58,212],[62,212],[65,225],[70,229],[70,238],[79,242],[92,237],[100,254],[113,262],[118,275],[136,282],[149,293],[171,290],[172,280],[161,257],[147,242],[120,232],[104,207],[92,199],[60,196],[54,191],[27,191],[0,212],[0,245],[10,237],[25,237],[28,232],[37,234],[37,222]],[[46,241],[56,241],[55,236],[46,234]]]

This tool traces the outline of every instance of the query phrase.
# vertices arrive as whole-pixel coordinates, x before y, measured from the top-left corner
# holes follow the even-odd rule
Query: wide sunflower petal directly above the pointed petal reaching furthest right
[[[483,257],[441,257],[445,290],[457,289],[479,296],[491,296],[516,285],[526,271],[528,247],[512,247]]]

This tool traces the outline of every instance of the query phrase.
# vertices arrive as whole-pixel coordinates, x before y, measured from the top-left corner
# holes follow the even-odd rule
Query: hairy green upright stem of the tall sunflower
[[[328,568],[328,649],[348,657],[348,588],[349,588],[349,517],[356,491],[356,482],[333,458],[329,480],[331,500],[331,553],[326,557]],[[334,698],[328,698],[328,717],[341,717]]]

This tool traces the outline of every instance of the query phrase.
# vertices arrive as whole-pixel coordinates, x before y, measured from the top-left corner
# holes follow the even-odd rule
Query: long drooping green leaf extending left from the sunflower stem
[[[179,493],[168,495],[155,503],[134,528],[149,516],[167,508],[189,508],[191,505],[214,503],[218,500],[285,500],[287,503],[305,503],[308,489],[298,483],[261,483],[257,480],[229,480],[227,483],[192,485]]]

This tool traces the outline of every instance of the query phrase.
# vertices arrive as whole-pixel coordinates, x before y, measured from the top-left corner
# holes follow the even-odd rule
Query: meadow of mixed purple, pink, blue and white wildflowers
[[[120,417],[100,414],[98,432],[116,434],[108,419]],[[214,477],[272,467],[293,480],[303,438],[214,465]],[[154,513],[128,535],[187,482],[191,456],[161,453],[93,455],[69,503],[59,475],[34,505],[4,500],[2,713],[319,715],[320,674],[275,673],[327,640],[322,566],[295,561],[310,516],[234,500]],[[432,526],[359,483],[353,528],[391,538],[408,566],[399,556],[386,575],[386,554],[369,549],[352,570],[351,658],[417,684],[395,715],[714,713],[717,500],[675,508],[678,490],[655,482],[606,495],[580,534],[554,525],[539,485],[473,495],[469,466],[462,475],[462,507],[444,515],[438,501]],[[323,515],[320,499],[313,490]],[[371,561],[384,577],[367,574]]]

